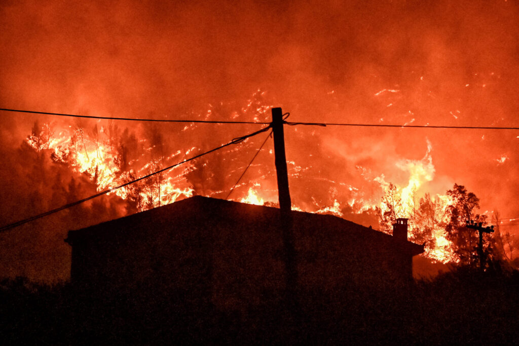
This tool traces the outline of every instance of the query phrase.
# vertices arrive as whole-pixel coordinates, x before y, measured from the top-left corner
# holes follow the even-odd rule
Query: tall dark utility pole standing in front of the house
[[[286,169],[283,122],[283,112],[281,108],[272,108],[272,132],[274,132],[274,152],[276,157],[276,174],[278,178],[280,224],[285,252],[286,302],[290,309],[297,312],[297,267],[294,235],[292,231],[292,201],[290,199],[289,177]]]

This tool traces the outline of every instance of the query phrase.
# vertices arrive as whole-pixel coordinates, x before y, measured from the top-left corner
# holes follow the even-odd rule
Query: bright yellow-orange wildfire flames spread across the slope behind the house
[[[381,92],[386,91],[398,92],[398,90],[383,90]],[[266,110],[263,109],[263,112],[266,112]],[[112,141],[111,135],[107,133],[109,131],[105,127],[100,127],[98,131],[97,125],[94,127],[94,131],[90,131],[89,134],[82,128],[73,129],[70,126],[54,131],[49,124],[44,124],[37,129],[33,128],[33,134],[28,137],[27,143],[37,151],[50,151],[54,162],[67,164],[73,171],[87,174],[98,191],[124,184],[137,177],[157,171],[168,160],[192,154],[196,149],[193,147],[187,150],[177,150],[169,157],[154,157],[150,154],[154,151],[154,146],[148,144],[146,140],[140,140],[142,152],[139,155],[131,156],[132,158],[129,159],[125,157],[124,148],[120,145],[117,146]],[[402,186],[393,186],[394,190],[391,193],[394,199],[395,216],[410,219],[409,239],[411,241],[417,241],[420,230],[424,228],[424,225],[420,224],[416,217],[416,213],[419,199],[422,197],[419,195],[419,191],[425,183],[433,180],[435,174],[431,151],[432,147],[428,142],[428,149],[424,158],[421,160],[401,160],[395,165],[398,169],[408,173],[407,183]],[[150,160],[150,158],[152,159]],[[301,177],[301,172],[309,172],[310,170],[310,167],[303,168],[292,161],[289,163],[292,167],[291,174],[294,179]],[[186,165],[169,173],[154,175],[139,187],[130,185],[115,190],[115,193],[122,199],[138,200],[138,211],[172,203],[193,195],[194,188],[186,182],[185,178],[186,174],[193,170],[192,166]],[[362,173],[363,176],[364,173]],[[319,177],[316,177],[316,179],[319,179]],[[388,193],[390,184],[385,181],[383,174],[373,180],[380,185],[384,193]],[[330,181],[330,183],[336,182]],[[328,202],[318,203],[312,197],[311,200],[315,209],[311,209],[308,204],[298,203],[294,204],[292,209],[319,214],[333,214],[338,217],[347,217],[344,213],[345,208],[359,214],[364,212],[374,214],[375,207],[380,208],[382,213],[387,211],[387,205],[364,200],[359,189],[351,185],[344,183],[334,185],[337,187],[334,187],[330,193],[331,198]],[[337,189],[344,189],[346,193],[349,193],[348,196],[352,196],[350,200],[342,201],[337,198]],[[247,195],[240,198],[239,201],[256,205],[275,205],[277,200],[275,192],[274,190],[262,189],[260,183],[256,182],[248,189]],[[214,191],[207,193],[212,195]],[[445,238],[444,229],[441,227],[442,222],[446,221],[445,211],[447,206],[452,201],[445,195],[436,195],[431,199],[435,205],[435,217],[439,222],[432,226],[431,233],[434,241],[426,246],[426,256],[441,262],[453,261],[455,259],[450,250],[450,244]]]

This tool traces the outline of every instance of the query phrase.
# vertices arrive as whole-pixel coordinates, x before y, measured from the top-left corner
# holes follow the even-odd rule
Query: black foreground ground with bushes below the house
[[[400,287],[299,292],[299,307],[218,311],[190,292],[92,295],[0,283],[2,344],[517,344],[519,272],[457,270]]]

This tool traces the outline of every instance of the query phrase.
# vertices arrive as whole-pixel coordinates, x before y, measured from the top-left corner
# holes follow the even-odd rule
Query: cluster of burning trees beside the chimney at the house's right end
[[[465,186],[454,184],[444,196],[432,198],[426,193],[416,205],[414,199],[409,202],[403,198],[403,190],[390,183],[377,207],[380,230],[391,233],[395,220],[406,217],[409,219],[409,240],[425,243],[427,257],[444,263],[475,266],[479,261],[478,234],[467,229],[466,224],[473,220],[486,225],[486,215],[476,214],[479,202]],[[501,233],[498,229],[484,237],[483,256],[489,264],[496,265],[511,261],[514,248],[510,233]]]

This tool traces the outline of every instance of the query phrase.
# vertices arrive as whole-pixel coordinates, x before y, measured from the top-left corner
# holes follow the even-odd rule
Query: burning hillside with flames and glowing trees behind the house
[[[254,94],[253,99],[248,101],[247,107],[241,109],[241,117],[249,116],[256,122],[267,122],[269,107],[262,106],[258,100],[264,94],[260,91]],[[253,103],[256,103],[256,107],[251,112],[250,107]],[[209,109],[206,115],[198,115],[198,117],[208,120],[212,113],[212,110]],[[252,113],[252,116],[248,113]],[[239,116],[236,112],[234,114],[233,118]],[[137,128],[134,129],[134,132],[130,132],[126,128],[120,132],[113,122],[106,127],[100,125],[99,122],[99,120],[95,121],[91,131],[88,132],[85,127],[63,127],[63,123],[59,126],[52,122],[40,126],[36,121],[26,143],[37,153],[50,155],[54,164],[64,165],[74,173],[87,176],[98,192],[114,189],[141,176],[154,174],[175,160],[182,162],[190,154],[196,153],[196,148],[192,147],[178,149],[175,153],[166,155],[163,138],[157,135],[156,128],[151,130],[148,128],[147,131],[145,127]],[[197,126],[191,124],[183,127],[181,131],[197,130],[199,130]],[[249,144],[241,149],[250,151],[251,148],[253,146]],[[430,193],[422,190],[422,186],[433,181],[435,175],[431,151],[432,145],[428,141],[427,152],[421,160],[401,159],[395,162],[396,168],[408,174],[406,186],[395,186],[386,182],[384,174],[375,177],[373,182],[380,185],[383,195],[380,202],[359,198],[362,187],[359,189],[330,181],[328,183],[332,185],[332,188],[325,202],[318,202],[314,196],[310,196],[312,204],[299,203],[296,200],[292,209],[333,214],[339,217],[345,217],[348,212],[350,216],[352,214],[357,216],[365,214],[364,216],[367,217],[376,215],[380,229],[387,233],[392,232],[391,225],[395,219],[409,218],[411,219],[409,238],[415,242],[425,240],[427,257],[443,263],[457,262],[459,258],[454,252],[454,245],[447,240],[446,234],[449,223],[447,210],[453,207],[455,200],[448,195],[431,197]],[[244,166],[239,165],[242,163],[233,158],[233,154],[236,152],[239,153],[236,148],[231,148],[220,154],[217,158],[218,169],[211,167],[211,160],[199,160],[154,174],[140,182],[115,189],[113,192],[126,201],[126,214],[169,204],[193,196],[193,194],[221,196],[226,192],[226,189],[222,187],[228,185],[230,179],[235,175],[233,173],[244,169]],[[272,149],[268,153],[271,156]],[[233,159],[236,161],[234,164]],[[222,162],[227,162],[226,167],[220,167]],[[305,178],[314,181],[320,180],[319,175],[311,175],[311,166],[302,167],[294,161],[288,163],[291,165],[290,178],[292,181],[297,181],[302,175],[307,175]],[[272,171],[268,169],[270,165],[265,159],[262,163],[257,163],[255,171],[249,173],[248,181],[235,186],[239,190],[248,187],[246,195],[238,196],[235,200],[257,205],[277,205],[277,190],[262,187],[262,185],[271,184],[273,179]],[[235,167],[230,173],[226,172],[226,168],[229,166]],[[262,173],[262,171],[264,172]],[[321,184],[323,183],[321,182]],[[230,192],[232,190],[234,188]],[[244,191],[241,191],[242,195]],[[230,196],[230,192],[227,196]],[[343,196],[340,202],[336,198],[338,195]],[[348,199],[344,200],[344,196],[348,196]],[[363,221],[366,223],[367,219]],[[503,248],[502,251],[506,250]],[[511,256],[512,251],[513,246],[509,244],[508,252]]]

